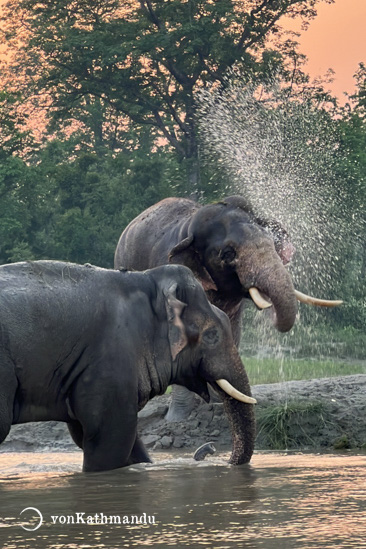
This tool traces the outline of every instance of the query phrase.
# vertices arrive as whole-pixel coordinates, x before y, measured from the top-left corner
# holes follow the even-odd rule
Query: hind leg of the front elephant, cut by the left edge
[[[0,358],[0,443],[9,434],[14,422],[14,400],[18,380],[14,366],[8,359]]]

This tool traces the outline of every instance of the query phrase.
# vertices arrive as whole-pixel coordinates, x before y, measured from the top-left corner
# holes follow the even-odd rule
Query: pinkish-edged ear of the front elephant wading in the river
[[[182,322],[182,313],[186,304],[176,297],[177,284],[172,284],[164,290],[165,308],[168,319],[168,338],[173,360],[188,344],[187,334]]]

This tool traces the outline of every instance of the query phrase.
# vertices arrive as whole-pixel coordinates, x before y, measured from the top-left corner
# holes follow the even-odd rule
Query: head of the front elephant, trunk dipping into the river
[[[165,266],[150,272],[154,271],[160,278],[162,291],[158,295],[164,299],[168,319],[165,339],[169,341],[172,358],[170,379],[165,377],[163,386],[182,385],[207,402],[210,399],[208,386],[219,393],[233,435],[230,461],[247,463],[254,450],[253,404],[256,401],[251,397],[249,380],[234,344],[229,319],[210,304],[189,269]],[[163,277],[161,273],[164,273]],[[169,274],[173,276],[167,276]]]

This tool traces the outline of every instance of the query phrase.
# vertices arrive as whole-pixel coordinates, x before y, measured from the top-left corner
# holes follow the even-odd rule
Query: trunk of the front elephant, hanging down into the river
[[[236,347],[233,346],[228,356],[234,357],[230,361],[230,367],[227,370],[228,381],[235,389],[250,396],[251,391],[248,376]],[[224,391],[218,389],[216,383],[213,385],[215,390],[220,393],[232,432],[233,450],[230,463],[233,465],[249,463],[253,455],[256,435],[254,405],[241,402],[229,396]]]

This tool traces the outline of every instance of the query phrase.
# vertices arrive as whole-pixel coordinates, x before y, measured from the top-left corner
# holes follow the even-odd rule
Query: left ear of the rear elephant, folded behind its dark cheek
[[[206,292],[208,290],[217,290],[215,282],[212,280],[207,269],[202,265],[200,257],[193,247],[193,236],[188,236],[170,250],[169,262],[185,265],[191,269]]]

